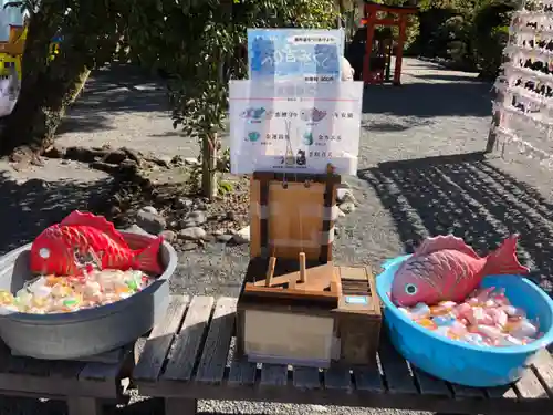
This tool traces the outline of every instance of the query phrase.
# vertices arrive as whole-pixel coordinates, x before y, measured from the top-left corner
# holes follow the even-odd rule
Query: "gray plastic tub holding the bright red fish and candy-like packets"
[[[136,249],[153,238],[122,231]],[[33,278],[29,271],[31,243],[0,258],[0,290],[15,293]],[[177,267],[177,255],[164,242],[160,261],[165,272],[128,299],[72,313],[0,315],[0,336],[15,353],[35,359],[67,360],[104,353],[134,342],[165,317],[169,303],[168,280]]]

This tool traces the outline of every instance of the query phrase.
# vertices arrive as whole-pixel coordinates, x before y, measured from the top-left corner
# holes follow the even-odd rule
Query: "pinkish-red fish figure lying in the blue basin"
[[[392,300],[400,307],[460,302],[486,276],[528,273],[517,259],[517,235],[511,236],[494,252],[480,258],[461,238],[428,238],[397,270]]]

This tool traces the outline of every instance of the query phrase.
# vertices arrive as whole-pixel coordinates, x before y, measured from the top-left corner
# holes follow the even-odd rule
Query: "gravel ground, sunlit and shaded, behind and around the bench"
[[[61,131],[64,145],[128,145],[159,154],[195,156],[197,144],[171,129],[165,95],[155,83],[143,81],[128,70],[96,73],[74,106]],[[124,81],[118,81],[124,80]],[[390,257],[409,252],[418,241],[436,234],[462,236],[481,253],[499,245],[510,232],[520,232],[520,257],[534,270],[532,277],[551,290],[553,258],[553,194],[551,173],[540,170],[524,159],[507,163],[484,158],[491,104],[488,83],[474,74],[455,72],[407,59],[401,87],[375,86],[365,92],[358,177],[346,178],[361,206],[338,225],[335,252],[338,262],[377,264]],[[60,166],[33,174],[48,176],[42,190],[19,191],[10,208],[28,200],[31,210],[39,207],[62,211],[82,207],[92,196],[102,195],[108,179],[83,177],[94,186],[61,184]],[[2,169],[2,166],[0,166]],[[12,175],[6,173],[7,175]],[[44,177],[42,177],[44,178]],[[21,180],[22,178],[19,177]],[[9,183],[17,191],[18,185]],[[46,191],[48,190],[48,191]],[[63,191],[62,191],[63,190]],[[79,190],[79,191],[77,191]],[[74,200],[55,195],[77,191]],[[43,196],[48,193],[50,196]],[[62,206],[63,205],[63,206]],[[51,206],[58,206],[51,208]],[[13,210],[17,211],[17,210]],[[12,214],[13,214],[12,211]],[[4,231],[0,249],[6,250],[31,239],[40,229],[27,229],[24,217]],[[14,230],[18,230],[17,232]],[[18,235],[14,241],[12,230]],[[247,264],[247,248],[210,245],[206,250],[180,256],[173,281],[175,292],[210,295],[237,295]],[[153,400],[133,397],[133,404],[118,414],[155,414],[160,409]],[[394,414],[397,411],[348,409],[323,406],[272,405],[232,402],[201,402],[204,413],[241,414]],[[63,414],[55,402],[3,400],[3,414]]]

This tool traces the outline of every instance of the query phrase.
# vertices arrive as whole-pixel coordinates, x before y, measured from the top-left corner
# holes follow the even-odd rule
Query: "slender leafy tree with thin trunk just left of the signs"
[[[170,74],[174,127],[201,143],[201,188],[217,195],[230,77],[244,75],[237,50],[250,27],[330,28],[333,0],[129,0],[128,44],[136,60]]]

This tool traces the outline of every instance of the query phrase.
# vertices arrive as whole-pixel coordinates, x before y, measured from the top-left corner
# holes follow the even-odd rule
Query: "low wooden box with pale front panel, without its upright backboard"
[[[382,324],[374,277],[363,266],[334,267],[334,271],[342,282],[337,304],[330,298],[273,297],[261,302],[242,291],[237,311],[239,351],[261,363],[327,367],[331,361],[373,362]]]

